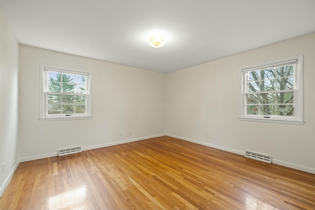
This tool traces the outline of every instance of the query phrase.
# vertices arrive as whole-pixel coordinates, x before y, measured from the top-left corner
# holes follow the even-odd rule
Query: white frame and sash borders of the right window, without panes
[[[247,79],[246,72],[254,70],[263,70],[266,68],[284,66],[285,64],[296,62],[296,68],[294,69],[294,117],[277,117],[277,116],[254,116],[247,115],[246,113],[246,94]],[[260,64],[253,64],[249,66],[240,67],[239,69],[239,119],[246,121],[260,121],[260,122],[274,122],[274,123],[286,123],[286,124],[299,124],[303,125],[303,55],[298,55],[281,60],[269,61]],[[261,91],[259,91],[261,92]],[[277,92],[275,90],[274,92]],[[266,93],[266,92],[262,92]],[[276,105],[276,104],[275,104]]]

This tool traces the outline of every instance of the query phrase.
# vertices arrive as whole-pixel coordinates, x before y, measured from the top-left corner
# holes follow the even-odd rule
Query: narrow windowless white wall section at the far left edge
[[[0,196],[19,159],[18,56],[18,42],[0,9]]]

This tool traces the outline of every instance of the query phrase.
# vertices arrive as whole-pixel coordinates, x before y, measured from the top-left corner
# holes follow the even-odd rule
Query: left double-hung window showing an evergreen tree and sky
[[[41,119],[91,117],[91,73],[41,65]]]

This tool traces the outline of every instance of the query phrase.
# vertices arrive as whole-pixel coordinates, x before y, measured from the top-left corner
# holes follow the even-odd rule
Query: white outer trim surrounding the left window
[[[88,75],[88,108],[87,108],[87,115],[86,116],[45,116],[45,68],[52,68],[52,69],[58,69],[60,72],[77,72],[81,74]],[[39,94],[39,100],[40,100],[40,106],[39,106],[39,120],[40,121],[54,121],[54,120],[80,120],[80,119],[91,119],[92,118],[92,72],[89,71],[81,71],[77,69],[71,69],[71,68],[65,68],[60,66],[54,66],[49,64],[40,64],[40,94]]]

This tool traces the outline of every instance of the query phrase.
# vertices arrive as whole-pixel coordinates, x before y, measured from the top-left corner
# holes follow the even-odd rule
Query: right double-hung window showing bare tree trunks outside
[[[240,68],[240,119],[303,124],[303,56]]]

